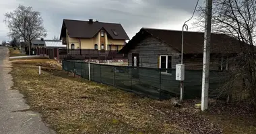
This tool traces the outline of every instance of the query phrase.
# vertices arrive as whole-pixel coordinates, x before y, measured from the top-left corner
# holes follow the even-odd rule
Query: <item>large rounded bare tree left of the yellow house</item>
[[[9,27],[9,36],[22,37],[28,45],[30,55],[31,41],[36,38],[46,37],[46,29],[43,27],[43,19],[40,12],[33,11],[32,7],[19,5],[12,12],[5,13],[5,23]]]

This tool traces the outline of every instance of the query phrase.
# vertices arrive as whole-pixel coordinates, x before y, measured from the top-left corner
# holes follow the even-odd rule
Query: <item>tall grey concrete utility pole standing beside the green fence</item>
[[[205,34],[203,44],[203,80],[201,94],[201,111],[208,108],[209,70],[210,70],[210,42],[212,28],[212,0],[205,0]]]

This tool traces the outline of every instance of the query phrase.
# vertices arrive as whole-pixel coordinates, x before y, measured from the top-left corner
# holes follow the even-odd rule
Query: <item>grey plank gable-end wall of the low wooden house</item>
[[[172,56],[172,68],[176,64],[181,63],[180,52],[174,50],[170,45],[154,38],[154,36],[146,36],[141,40],[135,48],[128,53],[128,65],[132,66],[132,53],[139,54],[139,66],[147,68],[159,68],[158,57],[160,55]]]

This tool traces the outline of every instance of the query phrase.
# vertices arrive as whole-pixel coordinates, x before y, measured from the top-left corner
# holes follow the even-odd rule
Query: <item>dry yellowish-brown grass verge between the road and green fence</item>
[[[12,61],[13,89],[42,113],[57,133],[255,133],[253,117],[201,113],[194,100],[170,105],[90,82],[61,70],[54,60]],[[38,66],[42,74],[38,75]]]

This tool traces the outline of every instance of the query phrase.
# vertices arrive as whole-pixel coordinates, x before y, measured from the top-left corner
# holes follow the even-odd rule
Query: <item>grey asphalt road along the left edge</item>
[[[11,90],[11,64],[8,49],[0,46],[0,133],[42,134],[55,133],[42,122],[39,113],[30,111],[24,96],[18,90]]]

